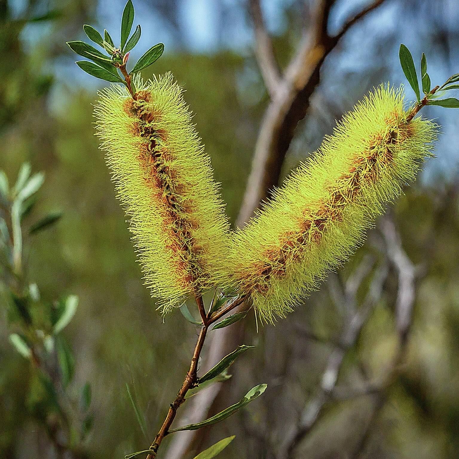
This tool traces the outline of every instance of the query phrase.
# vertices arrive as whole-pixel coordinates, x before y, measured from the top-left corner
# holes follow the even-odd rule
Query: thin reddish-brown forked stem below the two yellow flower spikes
[[[209,329],[209,325],[213,324],[216,320],[223,317],[226,313],[239,306],[242,302],[244,302],[244,299],[244,297],[239,298],[233,301],[231,304],[229,304],[229,306],[227,306],[226,308],[223,308],[220,311],[217,311],[216,313],[207,316],[206,309],[204,307],[204,302],[202,301],[202,296],[196,296],[196,304],[198,306],[199,313],[201,314],[202,327],[199,332],[198,340],[196,341],[193,357],[191,358],[190,369],[186,373],[185,380],[183,381],[182,387],[177,393],[177,397],[175,397],[174,402],[170,404],[170,408],[168,410],[168,414],[166,415],[166,419],[162,423],[161,429],[159,429],[158,433],[156,434],[153,443],[151,443],[151,453],[147,455],[146,459],[153,459],[156,457],[158,448],[160,447],[163,438],[166,437],[166,435],[168,435],[169,433],[169,428],[175,419],[177,409],[179,409],[180,405],[185,402],[186,393],[193,387],[197,386],[197,366],[199,356],[201,355],[202,347],[204,345],[204,340],[206,339],[207,330]]]

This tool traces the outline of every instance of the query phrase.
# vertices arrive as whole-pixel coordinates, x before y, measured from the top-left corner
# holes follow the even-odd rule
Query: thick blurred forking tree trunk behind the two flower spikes
[[[251,173],[236,220],[237,226],[242,226],[252,216],[260,201],[268,196],[269,190],[278,185],[285,154],[298,122],[306,116],[309,98],[319,84],[319,72],[325,57],[349,28],[380,6],[384,0],[370,3],[349,19],[335,37],[330,37],[327,28],[330,10],[336,0],[320,0],[283,75],[280,74],[274,58],[272,42],[264,27],[259,1],[249,1],[254,23],[257,62],[271,95],[271,101],[260,126]],[[242,327],[242,322],[238,322],[210,337],[209,352],[202,361],[203,368],[210,368],[234,350],[240,341]],[[205,419],[212,406],[217,404],[220,389],[221,385],[216,384],[199,397],[193,397],[185,409],[184,420],[197,422]],[[202,443],[204,435],[202,430],[183,432],[180,438],[174,438],[170,443],[166,459],[184,457],[193,445],[199,446]]]

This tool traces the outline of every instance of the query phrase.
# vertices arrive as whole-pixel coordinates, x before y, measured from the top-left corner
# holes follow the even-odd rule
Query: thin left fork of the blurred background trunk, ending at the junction
[[[281,76],[279,66],[274,57],[273,43],[265,28],[259,0],[250,0],[250,12],[255,32],[255,56],[257,57],[258,67],[260,67],[266,89],[271,99],[274,99]]]

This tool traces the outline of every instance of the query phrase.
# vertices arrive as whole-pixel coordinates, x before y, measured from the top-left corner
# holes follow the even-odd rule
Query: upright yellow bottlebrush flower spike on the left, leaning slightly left
[[[170,73],[134,84],[135,101],[119,85],[101,90],[97,135],[146,284],[166,313],[214,285],[229,224],[180,86]]]

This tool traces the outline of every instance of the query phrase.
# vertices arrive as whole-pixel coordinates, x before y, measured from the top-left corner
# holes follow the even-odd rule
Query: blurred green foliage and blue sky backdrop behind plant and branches
[[[343,18],[364,4],[338,1],[331,26],[339,29]],[[313,2],[266,0],[262,5],[276,55],[285,64],[301,38],[305,5],[312,8]],[[94,137],[91,104],[100,86],[73,64],[65,46],[67,40],[83,38],[83,23],[117,30],[123,6],[121,0],[0,0],[0,168],[10,182],[24,161],[45,173],[39,202],[27,217],[30,222],[45,213],[64,213],[52,229],[28,241],[27,276],[49,301],[62,294],[79,297],[77,313],[66,328],[76,362],[69,390],[78,397],[84,383],[91,383],[94,428],[84,448],[97,458],[123,457],[150,443],[181,384],[196,338],[196,330],[179,313],[163,323],[142,285],[125,217]],[[185,87],[234,221],[268,102],[252,53],[246,2],[137,0],[135,7],[143,31],[137,52],[158,41],[166,44],[164,56],[151,69],[172,71]],[[435,82],[458,71],[458,39],[459,6],[454,0],[387,0],[327,57],[286,157],[285,174],[320,145],[335,119],[367,90],[381,81],[403,81],[399,43],[416,56],[426,53]],[[407,95],[414,98],[409,89]],[[427,107],[424,115],[442,125],[437,159],[427,164],[393,211],[404,249],[422,271],[401,375],[385,392],[388,403],[364,445],[359,442],[373,422],[372,394],[327,405],[320,422],[288,457],[459,455],[459,119],[454,111],[436,107]],[[373,233],[370,243],[378,237]],[[347,279],[365,253],[374,252],[370,243],[347,264],[341,279]],[[355,380],[357,361],[370,375],[384,375],[396,339],[395,283],[389,273],[380,300],[345,357],[341,384]],[[275,328],[256,332],[253,318],[246,321],[244,342],[257,349],[232,368],[234,376],[225,383],[226,404],[262,379],[269,390],[247,411],[209,431],[211,438],[204,441],[211,444],[236,433],[222,458],[287,457],[279,445],[317,390],[330,342],[340,332],[340,316],[324,284]],[[0,458],[56,457],[28,411],[31,370],[8,341],[9,332],[2,304]],[[145,416],[147,438],[126,383]]]

